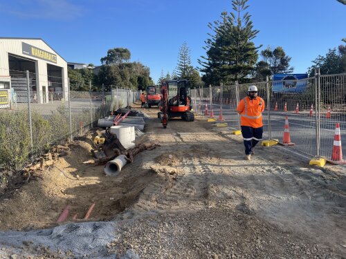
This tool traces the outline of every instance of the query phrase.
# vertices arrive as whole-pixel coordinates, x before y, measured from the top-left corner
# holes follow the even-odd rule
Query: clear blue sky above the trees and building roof
[[[282,46],[294,73],[346,38],[346,6],[336,0],[249,0],[260,30],[256,46]],[[192,65],[205,54],[208,22],[231,11],[230,0],[0,0],[0,37],[44,39],[66,61],[100,65],[110,48],[128,48],[131,61],[161,70],[176,67],[184,41]]]

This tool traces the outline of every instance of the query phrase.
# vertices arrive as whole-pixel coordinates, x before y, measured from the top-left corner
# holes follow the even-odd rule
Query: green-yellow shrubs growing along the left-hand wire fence
[[[104,109],[93,110],[93,120],[103,117]],[[64,105],[52,112],[49,119],[33,111],[33,147],[30,139],[30,124],[28,111],[0,111],[0,171],[1,168],[19,171],[33,162],[35,157],[46,153],[52,144],[63,144],[70,136],[69,109]],[[89,108],[83,108],[79,113],[72,113],[73,132],[80,131],[91,124]],[[0,173],[1,177],[1,173]],[[1,182],[1,180],[0,180]]]

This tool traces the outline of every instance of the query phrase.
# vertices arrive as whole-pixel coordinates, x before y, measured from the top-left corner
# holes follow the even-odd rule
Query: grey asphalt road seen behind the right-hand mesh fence
[[[206,104],[197,105],[197,113],[204,114]],[[213,112],[215,119],[219,119],[220,105],[213,104]],[[210,106],[208,104],[208,115],[210,115]],[[264,139],[268,139],[268,111],[264,111]],[[295,146],[290,146],[295,151],[306,153],[309,155],[317,155],[316,144],[316,118],[309,115],[309,111],[303,111],[298,114],[294,112],[271,111],[271,138],[278,139],[282,142],[284,134],[285,117],[289,118],[289,131],[291,142]],[[222,118],[229,127],[239,129],[238,115],[235,112],[235,106],[229,104],[222,105]],[[320,117],[320,156],[331,158],[334,144],[334,135],[336,123],[340,124],[341,143],[343,144],[343,153],[346,154],[346,115],[343,113],[331,113],[331,118],[325,118],[325,113]],[[344,155],[343,157],[346,160]]]

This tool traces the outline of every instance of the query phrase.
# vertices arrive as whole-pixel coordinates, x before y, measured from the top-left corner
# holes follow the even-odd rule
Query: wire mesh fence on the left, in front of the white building
[[[0,184],[6,182],[9,172],[12,175],[35,163],[51,146],[84,134],[98,119],[108,116],[110,111],[131,106],[139,97],[137,92],[117,87],[102,92],[69,92],[69,88],[76,87],[68,79],[64,84],[62,77],[55,77],[55,84],[48,85],[53,88],[43,86],[37,90],[39,76],[1,71],[11,75],[15,87],[0,84]],[[13,81],[12,75],[17,75]],[[6,102],[10,105],[1,106]]]

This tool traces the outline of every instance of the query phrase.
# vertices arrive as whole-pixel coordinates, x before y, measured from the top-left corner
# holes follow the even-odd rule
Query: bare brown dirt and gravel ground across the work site
[[[111,177],[83,164],[91,135],[73,142],[0,197],[0,230],[66,224],[56,221],[67,205],[67,221],[83,222],[95,203],[88,221],[119,222],[107,246],[119,258],[346,258],[345,167],[309,166],[282,146],[257,146],[247,161],[228,128],[197,117],[164,129],[156,108],[134,108],[150,116],[136,143],[161,146]]]

